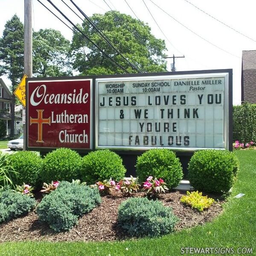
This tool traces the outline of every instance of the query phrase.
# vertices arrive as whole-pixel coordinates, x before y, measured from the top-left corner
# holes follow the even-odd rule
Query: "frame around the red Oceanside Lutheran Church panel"
[[[93,133],[93,123],[94,123],[94,105],[93,105],[93,99],[94,99],[94,86],[93,86],[93,76],[73,76],[73,77],[47,77],[47,78],[27,78],[26,79],[26,149],[25,150],[32,150],[32,151],[40,151],[40,152],[49,152],[52,151],[56,148],[60,148],[60,147],[32,147],[28,145],[28,136],[29,136],[29,90],[28,90],[28,86],[29,83],[32,82],[50,82],[50,81],[90,81],[90,99],[88,98],[88,101],[90,101],[90,148],[71,148],[72,150],[75,150],[77,152],[80,153],[86,153],[89,152],[91,150],[93,150],[94,148],[94,133]]]

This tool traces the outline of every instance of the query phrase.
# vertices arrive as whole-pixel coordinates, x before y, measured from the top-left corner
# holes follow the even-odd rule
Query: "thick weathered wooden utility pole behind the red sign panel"
[[[32,77],[32,0],[24,0],[24,75]],[[24,124],[23,137],[23,150],[25,150],[26,125]]]

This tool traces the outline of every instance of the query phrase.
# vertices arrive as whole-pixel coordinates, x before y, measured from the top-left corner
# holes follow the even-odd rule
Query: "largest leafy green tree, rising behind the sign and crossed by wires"
[[[105,15],[94,14],[90,17],[97,27],[111,39],[113,44],[125,57],[140,70],[146,72],[166,71],[165,42],[151,34],[148,25],[129,15],[116,11],[106,12]],[[137,73],[122,56],[111,48],[94,30],[83,22],[80,29],[94,41],[105,53],[121,64],[129,73]],[[73,69],[81,75],[117,74],[123,71],[102,56],[96,47],[74,34],[71,45],[73,50]]]

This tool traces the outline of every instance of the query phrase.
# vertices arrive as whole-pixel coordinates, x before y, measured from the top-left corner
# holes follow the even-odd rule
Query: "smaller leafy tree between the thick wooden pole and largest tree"
[[[70,41],[54,29],[40,29],[33,33],[34,76],[72,75],[68,52]]]

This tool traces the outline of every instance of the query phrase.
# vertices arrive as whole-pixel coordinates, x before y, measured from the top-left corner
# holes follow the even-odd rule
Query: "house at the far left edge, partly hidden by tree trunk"
[[[12,104],[12,93],[4,83],[3,79],[0,78],[0,120],[6,122],[6,135],[11,133],[11,104]],[[15,116],[14,122],[14,134],[20,134],[20,123],[22,118]]]

